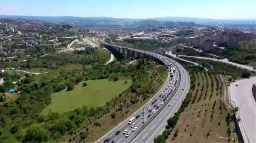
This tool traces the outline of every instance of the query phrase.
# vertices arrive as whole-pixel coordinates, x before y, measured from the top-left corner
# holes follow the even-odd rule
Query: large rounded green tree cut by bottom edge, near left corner
[[[32,125],[27,129],[22,143],[44,143],[49,140],[49,131],[40,125]]]

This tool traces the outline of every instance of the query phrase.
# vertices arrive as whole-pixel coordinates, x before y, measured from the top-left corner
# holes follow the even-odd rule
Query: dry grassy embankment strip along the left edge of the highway
[[[150,72],[150,73],[154,74],[155,72]],[[69,142],[68,140],[70,138],[73,139],[73,137],[75,137],[75,139],[72,140],[71,143],[79,143],[80,141],[79,132],[87,132],[87,135],[88,135],[87,139],[82,140],[81,143],[83,143],[84,141],[85,143],[93,143],[95,140],[99,139],[100,137],[105,135],[108,131],[113,129],[116,125],[118,125],[123,120],[128,118],[131,114],[137,111],[137,109],[142,107],[152,96],[154,96],[160,90],[160,88],[165,83],[167,76],[168,76],[167,73],[157,74],[158,78],[154,78],[154,81],[151,84],[152,85],[151,89],[154,89],[155,92],[151,94],[150,97],[147,98],[146,100],[143,100],[142,95],[136,95],[134,93],[123,93],[119,95],[120,98],[116,98],[114,100],[114,105],[113,107],[110,108],[110,111],[107,114],[103,116],[99,115],[98,117],[96,117],[95,119],[92,119],[91,121],[85,121],[80,126],[80,129],[78,129],[79,131],[76,131],[76,133],[74,133],[73,135],[66,135],[64,137],[61,137],[59,140],[59,143],[68,143]],[[159,83],[155,79],[163,79],[162,80],[163,82]],[[135,104],[131,104],[130,103],[131,99],[137,99],[138,102]],[[116,111],[121,105],[122,105],[122,110]],[[116,113],[115,118],[111,118],[111,113],[113,112]],[[96,121],[98,121],[101,124],[100,127],[93,126],[93,123]],[[92,124],[90,124],[90,122]],[[88,127],[88,131],[86,130],[87,127]]]

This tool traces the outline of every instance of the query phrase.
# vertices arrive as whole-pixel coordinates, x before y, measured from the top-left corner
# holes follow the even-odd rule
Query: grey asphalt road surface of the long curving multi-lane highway
[[[102,43],[105,44],[105,42],[101,41]],[[108,44],[110,45],[110,44]],[[120,46],[116,46],[118,48],[123,48]],[[120,123],[118,126],[116,126],[116,128],[112,129],[108,134],[106,134],[105,136],[103,136],[102,138],[100,138],[99,140],[97,140],[96,143],[103,143],[104,140],[106,140],[107,138],[110,138],[109,142],[111,142],[112,140],[115,140],[116,143],[125,143],[128,140],[131,139],[131,137],[133,135],[137,134],[138,129],[142,129],[145,128],[144,124],[148,122],[148,120],[150,118],[152,118],[152,115],[156,114],[157,111],[159,109],[161,109],[162,106],[166,106],[166,104],[162,104],[162,100],[163,100],[163,95],[166,97],[166,100],[168,100],[170,97],[173,97],[173,99],[170,101],[171,106],[166,106],[164,107],[163,111],[160,112],[160,114],[157,116],[157,118],[155,118],[153,120],[152,123],[149,124],[149,126],[152,126],[151,128],[153,128],[154,131],[152,131],[152,129],[147,129],[144,130],[139,137],[135,138],[134,143],[137,143],[137,139],[139,139],[139,143],[145,143],[144,141],[150,142],[151,140],[154,140],[154,137],[159,135],[160,132],[164,129],[164,126],[166,125],[166,120],[171,117],[176,110],[180,107],[180,104],[182,103],[183,99],[185,98],[185,95],[187,93],[187,90],[189,89],[189,76],[186,73],[186,70],[178,63],[176,63],[174,60],[167,58],[165,56],[156,54],[156,53],[152,53],[152,52],[148,52],[148,51],[143,51],[143,50],[138,50],[138,49],[131,49],[131,48],[125,48],[125,49],[129,49],[129,50],[134,50],[137,52],[141,52],[150,56],[154,56],[157,59],[160,59],[160,61],[162,61],[163,63],[169,65],[169,69],[175,68],[175,69],[179,69],[180,73],[176,70],[175,71],[175,76],[171,79],[170,76],[168,76],[168,79],[166,81],[166,83],[164,84],[164,86],[162,87],[162,89],[153,97],[151,98],[150,101],[148,101],[147,104],[144,105],[144,107],[142,107],[141,109],[138,109],[137,112],[135,112],[133,115],[131,115],[131,117],[136,117],[137,115],[139,116],[139,118],[136,118],[132,123],[134,124],[134,126],[131,127],[131,124],[128,124],[128,121],[131,117],[129,117],[128,119],[126,119],[125,121],[123,121],[122,123]],[[173,65],[175,63],[175,65]],[[170,64],[172,64],[172,66],[170,66]],[[183,71],[185,71],[183,73]],[[181,74],[181,78],[179,79],[179,74]],[[170,75],[170,72],[169,72]],[[175,90],[176,86],[176,82],[177,80],[181,80],[180,82],[180,87],[177,87],[177,93],[175,95],[172,95],[172,91]],[[169,84],[169,85],[168,85]],[[184,88],[184,90],[183,90]],[[171,91],[172,90],[172,91]],[[164,93],[163,93],[164,92]],[[170,93],[171,92],[171,93]],[[160,97],[161,95],[161,97]],[[155,101],[155,103],[153,104],[152,102]],[[158,103],[157,103],[158,101]],[[157,106],[159,106],[159,108],[157,108]],[[143,110],[145,110],[145,113],[143,114]],[[171,110],[171,112],[170,112]],[[155,113],[153,113],[155,111]],[[151,117],[148,117],[148,115],[151,114]],[[142,118],[142,116],[145,115],[145,117]],[[146,119],[145,123],[143,123],[143,119]],[[136,131],[132,131],[134,129],[134,127],[137,127],[138,129]],[[155,129],[154,129],[155,128]],[[126,137],[126,133],[124,134],[123,132],[127,130],[127,132],[130,132],[130,135],[128,135],[128,137]],[[150,130],[150,131],[148,131]],[[115,135],[117,131],[120,131],[120,133],[118,135]],[[144,136],[149,136],[148,140],[143,140],[142,138],[146,137],[140,137],[141,135]],[[142,142],[141,142],[142,141]]]

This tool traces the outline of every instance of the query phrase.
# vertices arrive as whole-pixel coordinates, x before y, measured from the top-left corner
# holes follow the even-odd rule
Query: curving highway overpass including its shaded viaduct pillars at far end
[[[106,42],[107,40],[108,42]],[[166,56],[149,51],[113,45],[113,42],[106,38],[101,39],[100,43],[104,45],[108,50],[110,50],[111,53],[113,53],[113,55],[119,56],[120,58],[130,56],[137,58],[152,57],[162,62],[169,69],[171,67],[177,69],[175,72],[175,76],[173,78],[168,76],[168,79],[164,86],[162,87],[162,89],[156,95],[154,95],[154,97],[151,98],[148,101],[148,103],[146,103],[143,107],[134,112],[133,115],[131,115],[129,118],[127,118],[125,121],[120,123],[118,126],[116,126],[114,129],[112,129],[110,132],[108,132],[106,135],[104,135],[95,142],[106,143],[105,140],[109,139],[109,142],[115,140],[116,143],[152,143],[154,137],[161,134],[162,130],[165,128],[167,124],[167,120],[174,115],[174,113],[180,107],[183,99],[185,98],[186,93],[189,90],[190,83],[188,73],[186,72],[184,67],[182,67],[179,63],[175,62],[173,59],[170,59]],[[173,85],[172,90],[169,90],[170,88],[168,84],[173,81],[177,81],[177,85]],[[160,108],[156,109],[153,107],[151,103],[155,99],[160,101],[161,97],[159,95],[161,94],[166,95],[166,101],[163,103],[163,105],[159,104]],[[168,104],[170,104],[171,106],[166,106]],[[147,115],[145,115],[146,121],[142,122],[143,119],[141,117],[144,115],[143,110],[147,110],[147,107],[149,107],[152,110],[154,109],[155,113],[152,114],[150,118],[147,117]],[[131,125],[128,124],[128,121],[131,117],[136,117],[137,115],[140,115],[140,118],[135,119],[133,123],[134,127],[136,126],[138,127],[138,129],[136,131],[132,131],[133,128],[130,127]],[[128,130],[128,132],[130,132],[130,135],[128,135],[128,137],[123,135],[123,131],[125,131],[126,129]],[[120,131],[120,134],[116,135],[117,131]]]

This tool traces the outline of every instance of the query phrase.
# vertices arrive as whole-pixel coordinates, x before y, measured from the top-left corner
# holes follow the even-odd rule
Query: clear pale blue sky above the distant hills
[[[256,0],[1,0],[0,15],[256,18]]]

